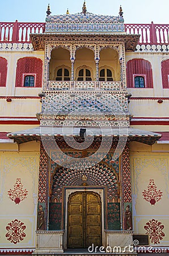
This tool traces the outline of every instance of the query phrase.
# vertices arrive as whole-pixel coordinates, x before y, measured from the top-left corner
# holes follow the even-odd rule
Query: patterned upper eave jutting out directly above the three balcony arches
[[[37,50],[44,50],[46,43],[55,43],[60,42],[64,43],[83,43],[84,41],[92,40],[94,43],[107,43],[108,45],[111,43],[124,43],[126,51],[135,51],[136,46],[138,44],[138,40],[140,35],[136,34],[53,34],[53,33],[44,33],[44,34],[30,34],[31,42],[33,45],[33,49]],[[83,39],[83,40],[82,40]],[[84,42],[86,45],[86,42]]]

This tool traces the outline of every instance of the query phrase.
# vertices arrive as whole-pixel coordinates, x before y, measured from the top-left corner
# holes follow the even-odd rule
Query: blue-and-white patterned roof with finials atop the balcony
[[[89,13],[84,1],[82,12],[77,14],[50,15],[50,7],[48,5],[47,18],[45,24],[45,33],[69,33],[71,34],[113,34],[124,33],[124,19],[120,6],[119,16],[98,15]],[[69,16],[67,15],[69,14]]]

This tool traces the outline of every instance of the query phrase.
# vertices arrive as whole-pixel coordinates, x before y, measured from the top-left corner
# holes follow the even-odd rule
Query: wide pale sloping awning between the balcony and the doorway
[[[40,126],[33,129],[23,130],[23,131],[15,131],[14,133],[7,134],[7,137],[10,139],[14,139],[14,142],[24,143],[28,141],[41,141],[43,139],[50,141],[51,138],[55,138],[56,140],[64,140],[65,137],[74,137],[79,136],[80,127],[49,127],[49,126]],[[136,141],[141,142],[148,145],[153,145],[156,141],[158,141],[162,135],[158,133],[152,133],[151,131],[144,131],[139,129],[134,129],[131,127],[87,127],[90,137],[94,135],[95,138],[102,139],[102,137],[109,137],[113,139],[119,139],[120,137],[128,139],[128,141]]]

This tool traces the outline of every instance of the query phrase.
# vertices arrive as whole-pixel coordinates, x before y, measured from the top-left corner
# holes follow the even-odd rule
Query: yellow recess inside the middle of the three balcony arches
[[[78,48],[75,52],[75,63],[74,63],[74,71],[75,71],[75,80],[78,78],[78,71],[83,67],[87,67],[91,72],[91,80],[95,80],[96,77],[96,67],[95,67],[95,59],[94,59],[94,51],[90,48],[83,47]]]

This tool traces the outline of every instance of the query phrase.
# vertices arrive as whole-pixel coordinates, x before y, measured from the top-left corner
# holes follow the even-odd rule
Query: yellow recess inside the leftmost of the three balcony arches
[[[66,68],[71,70],[70,52],[68,49],[63,47],[54,48],[50,54],[50,65],[49,65],[49,80],[56,80],[57,71],[59,68]],[[71,75],[71,74],[70,74]]]

